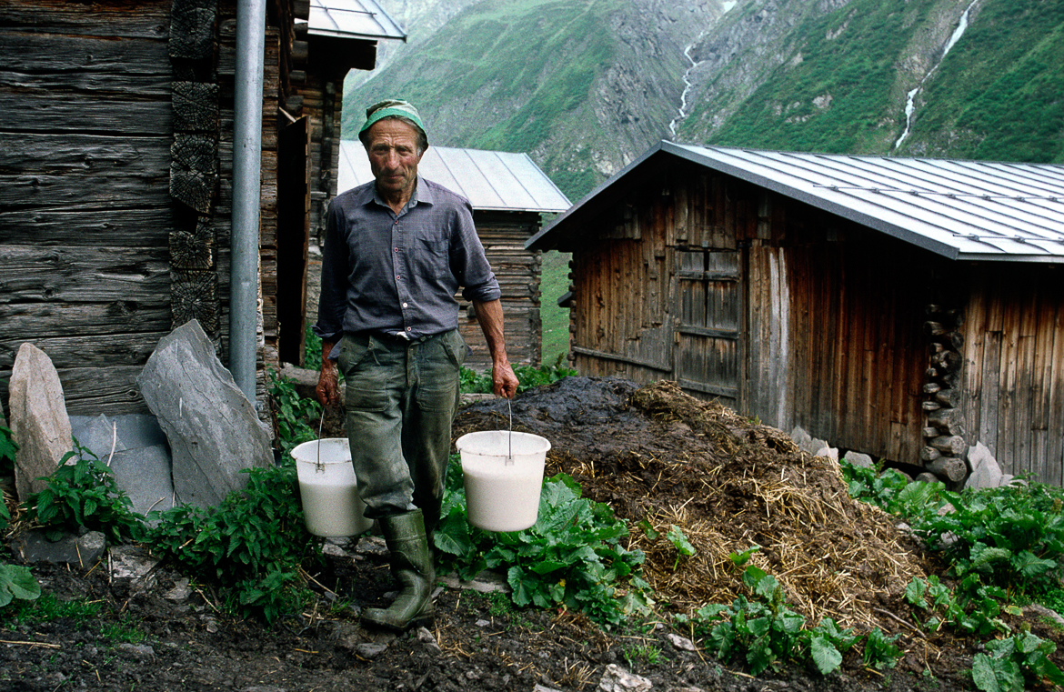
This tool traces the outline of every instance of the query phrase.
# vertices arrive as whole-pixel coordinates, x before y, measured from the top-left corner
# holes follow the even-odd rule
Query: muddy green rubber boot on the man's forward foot
[[[400,591],[387,608],[367,608],[365,625],[402,632],[414,625],[432,622],[432,588],[436,572],[425,534],[425,518],[416,509],[381,518],[384,542],[392,554],[392,574]]]

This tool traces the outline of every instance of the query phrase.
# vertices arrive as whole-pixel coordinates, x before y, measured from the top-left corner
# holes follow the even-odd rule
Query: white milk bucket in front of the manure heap
[[[454,445],[462,455],[471,525],[520,531],[535,524],[550,442],[528,432],[488,430],[464,434]]]

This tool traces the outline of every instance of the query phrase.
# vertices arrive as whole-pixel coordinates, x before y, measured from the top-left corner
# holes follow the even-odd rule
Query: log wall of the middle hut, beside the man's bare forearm
[[[539,230],[539,215],[523,212],[473,212],[477,234],[502,290],[506,356],[511,363],[539,364],[543,328],[539,322],[538,251],[525,249],[525,241]],[[459,296],[459,328],[472,353],[465,366],[482,370],[492,365],[491,353],[476,314]]]

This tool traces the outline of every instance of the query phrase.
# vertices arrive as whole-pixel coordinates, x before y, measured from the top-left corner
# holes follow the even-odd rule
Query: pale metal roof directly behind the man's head
[[[555,213],[571,204],[527,153],[433,146],[417,171],[462,195],[476,210]],[[338,178],[340,192],[373,179],[361,142],[340,142]]]

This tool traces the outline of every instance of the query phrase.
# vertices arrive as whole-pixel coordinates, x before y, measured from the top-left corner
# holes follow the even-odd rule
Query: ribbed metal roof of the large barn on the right
[[[1064,263],[1064,165],[852,156],[662,142],[529,238],[665,152],[799,199],[954,260]],[[569,228],[568,231],[575,231]]]

